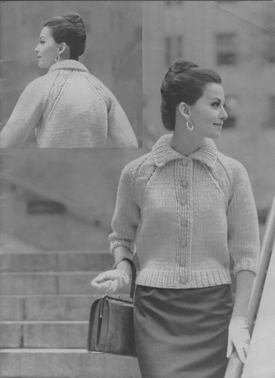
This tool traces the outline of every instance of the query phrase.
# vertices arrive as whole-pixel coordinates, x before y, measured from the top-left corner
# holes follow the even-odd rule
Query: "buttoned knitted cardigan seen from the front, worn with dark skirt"
[[[256,274],[259,227],[244,166],[218,153],[211,139],[188,157],[162,136],[152,152],[122,171],[109,235],[137,251],[137,284],[195,288],[231,283],[234,274]]]

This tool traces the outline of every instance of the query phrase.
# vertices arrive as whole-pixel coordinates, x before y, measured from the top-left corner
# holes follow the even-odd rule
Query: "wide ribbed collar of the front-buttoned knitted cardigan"
[[[172,134],[162,135],[152,148],[154,163],[161,167],[167,162],[175,159],[182,159],[184,155],[171,147]],[[213,168],[217,160],[217,148],[212,139],[205,138],[200,149],[188,155],[188,157],[200,160],[210,168]]]

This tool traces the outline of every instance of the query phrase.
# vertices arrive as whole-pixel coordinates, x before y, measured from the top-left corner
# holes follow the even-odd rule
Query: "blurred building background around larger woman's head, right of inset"
[[[160,87],[177,57],[221,75],[229,118],[215,143],[246,167],[264,221],[275,195],[275,3],[143,3],[147,150],[168,133],[161,123]]]

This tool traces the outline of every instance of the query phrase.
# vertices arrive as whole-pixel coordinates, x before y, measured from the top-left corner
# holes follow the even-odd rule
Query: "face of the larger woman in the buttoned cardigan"
[[[221,134],[225,111],[225,94],[220,84],[208,83],[203,95],[194,105],[187,105],[194,130],[201,138],[218,138]]]

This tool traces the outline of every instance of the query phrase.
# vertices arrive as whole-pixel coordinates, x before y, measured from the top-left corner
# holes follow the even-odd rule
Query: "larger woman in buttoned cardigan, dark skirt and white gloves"
[[[134,296],[143,378],[222,378],[236,348],[249,345],[248,301],[259,230],[247,172],[217,152],[227,118],[221,78],[178,59],[161,87],[161,116],[173,135],[121,175],[109,236],[115,260],[137,252]],[[234,259],[233,305],[230,256]],[[129,282],[127,261],[99,274],[105,292]]]

